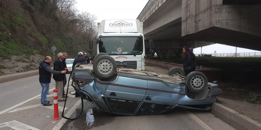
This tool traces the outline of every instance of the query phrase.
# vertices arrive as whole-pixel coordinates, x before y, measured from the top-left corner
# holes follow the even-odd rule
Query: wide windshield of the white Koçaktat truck
[[[110,55],[141,55],[143,37],[100,37],[99,52]]]

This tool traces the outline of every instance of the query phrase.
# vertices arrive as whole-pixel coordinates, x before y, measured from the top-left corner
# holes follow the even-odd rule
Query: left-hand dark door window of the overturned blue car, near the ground
[[[139,105],[139,101],[106,98],[114,113],[133,114]]]

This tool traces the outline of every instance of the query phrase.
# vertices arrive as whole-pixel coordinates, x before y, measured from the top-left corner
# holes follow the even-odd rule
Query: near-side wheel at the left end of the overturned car
[[[101,55],[93,64],[93,71],[100,78],[112,77],[117,71],[116,61],[109,55]]]

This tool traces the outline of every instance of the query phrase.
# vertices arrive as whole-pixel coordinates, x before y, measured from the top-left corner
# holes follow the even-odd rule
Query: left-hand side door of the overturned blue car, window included
[[[144,99],[147,80],[118,76],[109,83],[104,97],[112,113],[134,114]]]

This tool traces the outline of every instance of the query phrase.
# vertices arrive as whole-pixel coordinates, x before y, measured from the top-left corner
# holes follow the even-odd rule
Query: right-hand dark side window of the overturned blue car
[[[136,113],[136,115],[149,115],[149,114],[165,111],[167,106],[169,105],[143,103],[139,108],[139,111]]]

